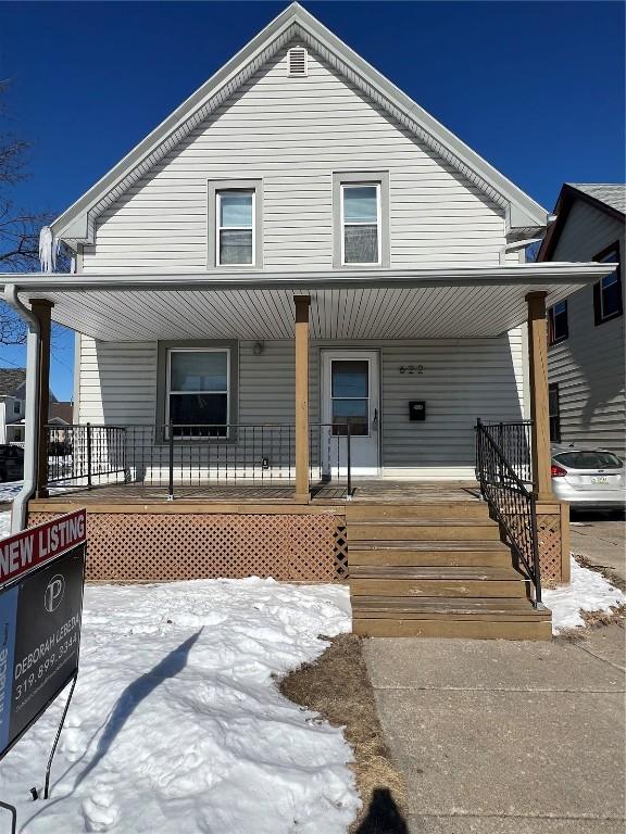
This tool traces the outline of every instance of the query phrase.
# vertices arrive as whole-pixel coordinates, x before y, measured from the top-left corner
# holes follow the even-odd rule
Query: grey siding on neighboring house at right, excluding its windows
[[[553,261],[590,261],[616,240],[624,223],[577,201],[569,212]],[[624,264],[622,264],[624,290]],[[550,382],[559,383],[561,440],[626,453],[624,316],[600,326],[593,319],[593,288],[567,301],[569,336],[548,352]]]

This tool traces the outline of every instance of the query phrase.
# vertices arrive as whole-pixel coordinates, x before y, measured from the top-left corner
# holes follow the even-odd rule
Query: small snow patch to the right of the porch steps
[[[584,611],[609,611],[626,605],[626,594],[614,587],[601,573],[578,565],[571,557],[572,582],[554,591],[542,593],[544,605],[552,611],[552,633],[585,626]]]

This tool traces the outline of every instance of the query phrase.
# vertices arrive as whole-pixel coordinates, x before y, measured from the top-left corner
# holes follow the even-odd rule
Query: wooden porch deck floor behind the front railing
[[[370,503],[428,503],[476,501],[479,496],[476,481],[418,481],[418,480],[358,480],[353,483],[353,502]],[[36,498],[32,505],[40,503],[58,504],[160,504],[168,502],[168,490],[163,485],[111,483],[87,489],[49,488],[49,496]],[[175,485],[174,501],[170,504],[203,503],[293,503],[293,484],[205,484]],[[346,488],[341,484],[322,484],[313,489],[312,504],[343,505]]]

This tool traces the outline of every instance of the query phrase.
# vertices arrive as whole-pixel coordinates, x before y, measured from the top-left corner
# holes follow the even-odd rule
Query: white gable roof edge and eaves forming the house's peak
[[[292,3],[58,217],[52,224],[54,236],[74,249],[79,242],[93,242],[96,218],[279,49],[297,38],[502,206],[506,213],[509,230],[518,229],[518,233],[524,235],[546,226],[547,212],[535,200],[385,78],[312,14],[298,3]]]

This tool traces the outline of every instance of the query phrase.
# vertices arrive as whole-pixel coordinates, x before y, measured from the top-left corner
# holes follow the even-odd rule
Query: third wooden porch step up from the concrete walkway
[[[350,547],[350,566],[511,566],[511,551],[497,541],[358,541]]]

